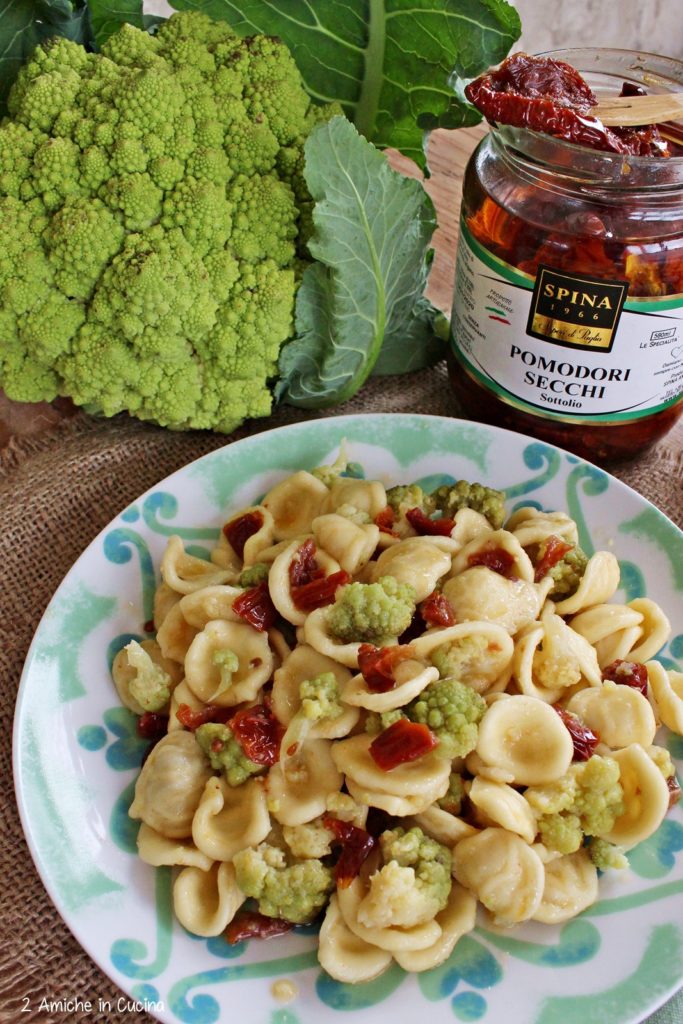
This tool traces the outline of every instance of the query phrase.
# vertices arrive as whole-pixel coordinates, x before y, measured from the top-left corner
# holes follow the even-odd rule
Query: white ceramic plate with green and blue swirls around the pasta
[[[600,902],[564,927],[494,932],[483,919],[450,961],[367,985],[331,981],[315,938],[298,930],[230,947],[189,936],[170,909],[171,872],[135,855],[127,816],[141,744],[109,665],[152,618],[170,534],[207,548],[228,510],[300,468],[330,462],[342,438],[357,472],[387,483],[465,478],[504,488],[508,509],[563,509],[587,552],[622,562],[616,600],[647,595],[674,624],[660,658],[683,662],[683,534],[602,470],[530,438],[427,416],[334,417],[229,444],[191,463],[118,516],[78,559],[33,642],[14,730],[16,791],[31,852],[79,942],[127,993],[170,1024],[437,1021],[635,1024],[683,981],[683,812],[601,880]],[[683,761],[683,740],[661,739]],[[276,979],[294,982],[287,1007]],[[114,1008],[116,1010],[116,1008]]]

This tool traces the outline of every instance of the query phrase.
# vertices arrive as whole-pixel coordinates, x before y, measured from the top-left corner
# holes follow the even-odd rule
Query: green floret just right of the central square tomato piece
[[[457,679],[437,679],[403,711],[412,722],[429,726],[441,757],[464,758],[476,746],[486,701]]]

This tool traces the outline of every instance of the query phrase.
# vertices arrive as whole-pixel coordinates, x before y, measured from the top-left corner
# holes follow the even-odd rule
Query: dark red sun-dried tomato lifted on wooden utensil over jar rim
[[[465,95],[495,124],[530,128],[607,153],[664,155],[655,144],[656,129],[614,131],[594,117],[595,94],[563,60],[513,53],[496,71],[470,82]]]

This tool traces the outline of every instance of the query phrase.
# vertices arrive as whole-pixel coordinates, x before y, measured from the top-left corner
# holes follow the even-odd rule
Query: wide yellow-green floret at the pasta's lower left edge
[[[316,857],[288,863],[285,852],[268,843],[242,850],[232,863],[239,888],[258,900],[261,913],[296,925],[311,921],[334,888],[332,868]]]

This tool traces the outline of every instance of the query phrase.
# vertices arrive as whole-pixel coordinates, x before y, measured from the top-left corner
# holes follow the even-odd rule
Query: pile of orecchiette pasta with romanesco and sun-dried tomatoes
[[[499,926],[593,903],[680,796],[654,740],[683,733],[683,673],[654,660],[664,611],[607,603],[616,558],[564,513],[343,468],[232,515],[210,561],[172,537],[156,639],[114,680],[161,737],[130,815],[178,868],[180,923],[322,914],[322,966],[356,983],[437,966],[477,903]]]

